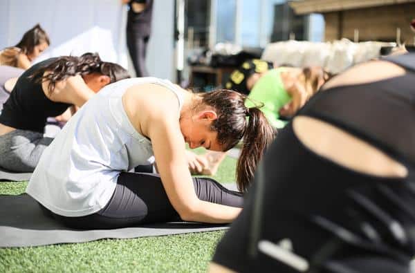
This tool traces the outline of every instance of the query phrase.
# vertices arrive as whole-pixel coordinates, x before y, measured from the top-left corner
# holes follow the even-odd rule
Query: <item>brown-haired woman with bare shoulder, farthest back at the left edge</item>
[[[49,45],[48,35],[37,24],[23,35],[16,46],[10,46],[0,51],[0,65],[14,66],[26,70]]]

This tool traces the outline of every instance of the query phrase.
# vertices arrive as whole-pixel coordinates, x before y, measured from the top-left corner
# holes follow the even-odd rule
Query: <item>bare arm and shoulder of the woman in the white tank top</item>
[[[141,95],[139,88],[151,88]],[[230,223],[240,208],[197,198],[185,158],[185,140],[178,124],[178,102],[172,91],[146,84],[130,88],[123,97],[127,116],[136,129],[151,139],[157,168],[170,203],[183,220]],[[137,115],[134,113],[140,109]],[[142,122],[137,122],[142,118]]]

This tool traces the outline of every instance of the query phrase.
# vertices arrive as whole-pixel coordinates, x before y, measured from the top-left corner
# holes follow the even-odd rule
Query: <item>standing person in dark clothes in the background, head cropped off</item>
[[[147,44],[151,34],[153,0],[121,0],[127,3],[127,47],[137,77],[148,77],[145,64]]]

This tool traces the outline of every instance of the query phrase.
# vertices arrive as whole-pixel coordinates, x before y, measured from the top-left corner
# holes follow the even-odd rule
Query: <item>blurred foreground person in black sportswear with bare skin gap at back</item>
[[[279,131],[210,272],[409,272],[415,54],[350,68]]]

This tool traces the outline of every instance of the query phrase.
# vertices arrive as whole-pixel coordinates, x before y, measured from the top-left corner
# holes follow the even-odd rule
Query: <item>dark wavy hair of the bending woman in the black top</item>
[[[50,73],[44,75],[46,71],[50,71]],[[83,76],[91,73],[107,75],[110,78],[111,84],[120,79],[130,77],[127,70],[122,68],[122,66],[110,62],[102,62],[98,53],[85,53],[81,57],[59,57],[51,64],[48,64],[48,66],[36,70],[30,77],[36,79],[37,82],[48,81],[48,91],[51,93],[57,82],[68,77]]]

